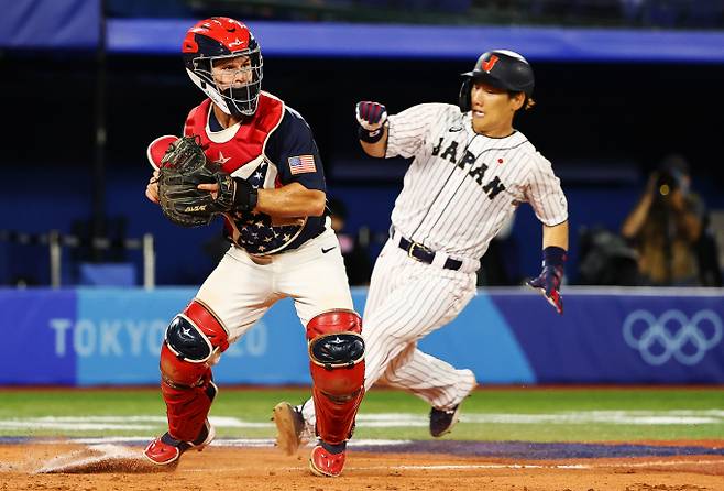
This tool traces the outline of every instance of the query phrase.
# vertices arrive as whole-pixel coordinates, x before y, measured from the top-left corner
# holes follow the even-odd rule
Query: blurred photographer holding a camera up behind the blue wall
[[[696,247],[706,211],[690,185],[687,161],[680,155],[667,156],[624,221],[621,232],[639,253],[641,284],[701,284]]]

